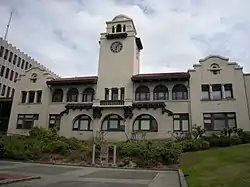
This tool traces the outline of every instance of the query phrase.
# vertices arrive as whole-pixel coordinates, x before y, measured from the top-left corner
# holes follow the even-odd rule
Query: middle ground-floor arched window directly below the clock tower
[[[104,118],[102,122],[103,131],[124,131],[125,124],[121,116],[111,114]]]

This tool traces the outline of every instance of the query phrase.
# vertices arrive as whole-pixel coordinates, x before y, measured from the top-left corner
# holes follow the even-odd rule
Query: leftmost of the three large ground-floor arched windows
[[[73,121],[73,131],[92,131],[92,120],[88,115],[77,116]]]

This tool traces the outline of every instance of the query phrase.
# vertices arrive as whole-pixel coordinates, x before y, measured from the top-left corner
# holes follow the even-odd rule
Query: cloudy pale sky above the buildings
[[[119,14],[134,20],[140,73],[187,71],[208,55],[250,72],[248,0],[0,0],[0,36],[62,77],[97,75],[99,38]]]

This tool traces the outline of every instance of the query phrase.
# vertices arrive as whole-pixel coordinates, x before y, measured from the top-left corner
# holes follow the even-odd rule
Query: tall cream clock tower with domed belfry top
[[[99,42],[97,100],[132,101],[131,77],[139,74],[142,49],[136,34],[133,20],[126,15],[106,22],[106,32],[101,33]],[[118,90],[118,98],[114,99],[112,90]]]

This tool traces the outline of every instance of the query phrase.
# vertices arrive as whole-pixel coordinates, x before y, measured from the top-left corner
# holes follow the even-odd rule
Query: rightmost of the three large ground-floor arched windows
[[[137,116],[133,124],[133,131],[158,132],[157,121],[148,114]]]

